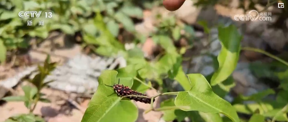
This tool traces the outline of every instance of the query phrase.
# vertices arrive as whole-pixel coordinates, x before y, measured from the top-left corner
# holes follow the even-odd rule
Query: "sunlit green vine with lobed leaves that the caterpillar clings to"
[[[222,78],[216,79],[218,80],[217,82],[215,82],[215,80],[213,79],[212,81],[210,81],[211,83],[217,83],[217,84],[223,82],[226,78],[228,78],[228,76],[232,73],[233,69],[235,68],[234,66],[230,66],[228,67],[230,70],[229,72],[221,71],[223,69],[222,67],[229,66],[231,65],[231,63],[232,64],[237,63],[237,59],[238,59],[237,56],[240,51],[240,41],[241,41],[241,35],[238,34],[235,26],[231,25],[225,28],[219,27],[219,30],[222,31],[222,32],[219,31],[219,40],[221,41],[221,44],[223,47],[220,52],[220,54],[222,55],[218,56],[218,61],[220,62],[219,63],[220,71],[215,73],[214,75],[217,77],[220,76]],[[166,40],[165,43],[167,42],[169,41]],[[165,43],[163,42],[163,45],[167,45]],[[233,43],[233,44],[229,44],[229,43]],[[164,47],[164,49],[166,48]],[[170,54],[169,56],[171,57],[177,55],[177,53],[175,52],[168,51],[167,53],[169,53]],[[235,55],[235,56],[232,56],[232,58],[227,61],[227,59],[223,55],[231,55],[231,56]],[[169,62],[161,63],[162,66],[166,66],[166,64],[169,64]],[[172,65],[167,65],[168,70],[165,70],[166,73],[170,71],[169,69],[173,69],[173,65],[175,64],[176,64],[176,61],[173,62]],[[134,85],[133,79],[137,77],[137,74],[139,74],[140,76],[144,75],[144,73],[141,72],[141,70],[143,69],[137,70],[139,68],[135,68],[135,67],[139,67],[139,65],[140,64],[135,64],[132,66],[131,65],[127,66],[125,68],[121,68],[119,69],[121,72],[104,71],[99,78],[98,90],[94,94],[94,97],[91,99],[89,107],[87,108],[85,115],[82,118],[82,122],[90,122],[90,121],[134,122],[137,119],[137,115],[138,115],[138,111],[135,105],[131,103],[130,101],[125,100],[125,98],[122,99],[121,97],[117,97],[116,94],[108,97],[108,95],[113,93],[114,91],[112,88],[106,88],[104,84],[112,85],[115,83],[115,79],[120,78],[121,79],[120,84],[133,88],[133,85]],[[131,67],[134,67],[134,68],[131,68]],[[134,70],[131,70],[131,69],[134,69]],[[229,102],[225,101],[224,99],[222,99],[221,97],[219,97],[212,91],[212,88],[209,82],[206,80],[206,78],[203,75],[188,74],[187,75],[188,78],[187,78],[185,77],[185,74],[181,66],[178,66],[177,69],[174,71],[177,71],[177,72],[173,72],[175,73],[175,79],[182,85],[185,91],[161,93],[161,94],[158,94],[157,96],[153,96],[152,98],[158,97],[159,95],[177,94],[177,97],[175,98],[175,100],[173,99],[170,100],[172,103],[174,101],[174,105],[173,104],[168,105],[168,104],[165,104],[166,102],[163,102],[161,108],[153,108],[152,106],[153,102],[152,102],[151,109],[146,112],[149,112],[151,110],[165,111],[164,113],[165,115],[167,113],[174,114],[176,111],[175,109],[181,109],[182,111],[180,111],[180,113],[181,112],[185,113],[185,114],[181,114],[184,116],[192,114],[193,112],[191,111],[201,111],[202,115],[209,113],[209,115],[211,116],[215,116],[216,118],[222,119],[220,115],[218,114],[218,113],[222,113],[226,115],[228,118],[230,118],[231,120],[233,120],[234,122],[240,121],[236,114],[236,109],[233,108],[233,106]],[[145,73],[149,74],[151,73],[151,70]],[[133,74],[133,75],[130,75],[130,74]],[[146,76],[149,76],[149,75],[146,75]],[[149,78],[149,77],[146,77],[146,78]],[[211,101],[211,99],[213,99],[213,101]],[[103,101],[106,101],[106,102],[103,103]],[[126,108],[126,109],[120,109],[120,108]],[[95,113],[94,112],[95,110],[102,111],[102,112]],[[108,114],[104,114],[104,113],[108,113]],[[125,113],[133,113],[133,114],[132,115],[130,114],[128,117]],[[199,114],[199,113],[194,113],[194,114]],[[109,116],[115,116],[115,117],[111,118]],[[171,115],[166,115],[166,116],[171,116]]]

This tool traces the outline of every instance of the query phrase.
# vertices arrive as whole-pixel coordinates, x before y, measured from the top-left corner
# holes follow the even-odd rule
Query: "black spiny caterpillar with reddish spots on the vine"
[[[149,97],[148,95],[134,91],[131,88],[129,88],[128,86],[120,85],[119,83],[120,83],[120,79],[118,80],[118,84],[115,84],[113,86],[109,86],[109,87],[114,88],[114,90],[116,91],[116,93],[119,96],[122,97],[122,96],[127,96],[127,95],[135,95],[136,97],[126,97],[126,98],[129,98],[130,100],[135,100],[136,102],[139,101],[139,102],[148,103],[148,104],[151,103],[151,97]],[[106,84],[104,84],[104,85],[106,85]],[[108,86],[108,85],[106,85],[106,86]],[[143,96],[146,96],[148,98],[144,98]],[[153,102],[154,101],[155,101],[155,99],[153,99]]]

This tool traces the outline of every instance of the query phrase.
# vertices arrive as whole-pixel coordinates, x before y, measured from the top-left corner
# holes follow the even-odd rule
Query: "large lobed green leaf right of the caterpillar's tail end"
[[[190,91],[178,93],[175,98],[176,106],[190,106],[190,109],[184,111],[222,113],[234,122],[240,121],[236,109],[229,102],[213,93],[211,86],[203,75],[188,74],[187,76],[193,88]]]

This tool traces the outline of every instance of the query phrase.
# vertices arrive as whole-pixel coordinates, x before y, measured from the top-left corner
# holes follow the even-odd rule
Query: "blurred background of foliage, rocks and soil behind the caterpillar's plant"
[[[24,94],[21,86],[27,83],[22,78],[37,69],[35,64],[42,63],[47,54],[59,65],[47,77],[55,81],[42,89],[50,102],[39,102],[34,110],[47,122],[80,122],[97,89],[101,71],[139,63],[142,58],[147,66],[140,75],[153,79],[149,82],[153,87],[181,91],[183,88],[167,78],[167,71],[163,70],[163,66],[174,64],[160,57],[178,53],[182,55],[180,64],[185,74],[209,76],[215,71],[221,49],[218,25],[235,25],[243,35],[242,47],[253,47],[288,61],[287,0],[186,0],[173,12],[167,11],[162,2],[1,0],[0,98]],[[284,3],[284,8],[278,8],[278,3]],[[44,20],[44,25],[33,20],[28,26],[27,19],[20,20],[18,16],[20,11],[45,10],[54,11],[54,15],[51,20]],[[250,10],[271,13],[272,20],[234,20],[235,15],[248,14]],[[224,84],[224,93],[213,89],[229,102],[257,93],[270,100],[288,102],[287,66],[263,53],[241,50],[237,68],[229,79],[232,82]],[[270,89],[275,93],[267,93]],[[147,94],[153,92],[156,91],[148,90]],[[259,106],[255,101],[247,100],[243,105]],[[29,111],[22,102],[0,101],[0,105],[0,121]],[[140,110],[147,108],[137,105]],[[240,117],[249,120],[253,112],[238,107],[237,111],[243,114]],[[161,112],[141,113],[137,121],[158,122],[161,118]]]

